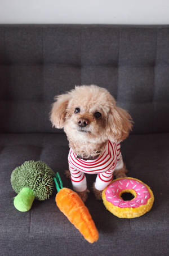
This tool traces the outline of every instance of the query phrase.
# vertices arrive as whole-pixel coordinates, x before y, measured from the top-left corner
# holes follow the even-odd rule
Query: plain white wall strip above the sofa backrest
[[[169,24],[169,0],[0,0],[0,23]]]

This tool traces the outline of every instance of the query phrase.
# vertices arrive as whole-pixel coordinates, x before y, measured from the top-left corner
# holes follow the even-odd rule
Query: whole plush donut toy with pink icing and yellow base
[[[131,193],[132,200],[123,200],[123,193]],[[150,211],[154,195],[150,187],[136,178],[118,178],[112,181],[102,193],[107,210],[120,218],[135,218]]]

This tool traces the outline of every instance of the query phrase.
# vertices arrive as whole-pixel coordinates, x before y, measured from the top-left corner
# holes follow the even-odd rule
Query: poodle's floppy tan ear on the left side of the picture
[[[53,127],[55,126],[58,129],[64,127],[64,118],[66,116],[66,108],[68,106],[70,95],[62,94],[55,97],[55,103],[52,104],[52,110],[50,113],[50,121],[52,122]]]

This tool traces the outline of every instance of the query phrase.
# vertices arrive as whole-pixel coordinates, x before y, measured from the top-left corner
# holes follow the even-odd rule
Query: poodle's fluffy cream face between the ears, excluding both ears
[[[98,138],[104,133],[109,106],[102,88],[76,87],[66,108],[64,130],[81,138]]]

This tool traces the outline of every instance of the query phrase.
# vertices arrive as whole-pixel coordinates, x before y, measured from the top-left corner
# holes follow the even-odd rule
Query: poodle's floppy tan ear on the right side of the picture
[[[108,137],[111,140],[121,142],[126,139],[132,130],[132,118],[126,110],[118,106],[112,106],[108,114]]]

